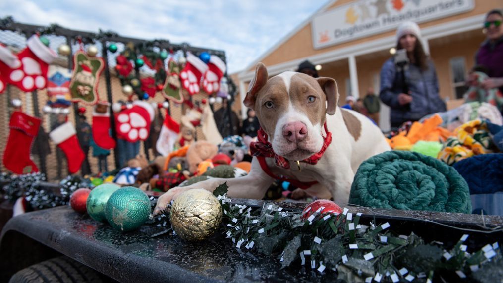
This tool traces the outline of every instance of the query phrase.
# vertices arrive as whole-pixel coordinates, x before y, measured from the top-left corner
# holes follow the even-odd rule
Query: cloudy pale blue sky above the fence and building
[[[167,39],[224,50],[228,73],[246,68],[329,0],[17,0],[0,1],[0,18],[121,36]]]

